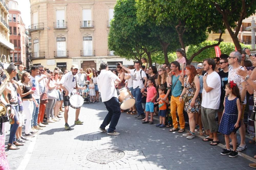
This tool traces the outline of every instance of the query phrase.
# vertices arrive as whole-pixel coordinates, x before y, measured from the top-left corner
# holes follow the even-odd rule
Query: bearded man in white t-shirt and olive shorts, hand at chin
[[[210,145],[220,143],[217,133],[218,126],[215,121],[217,110],[220,106],[221,80],[219,74],[214,71],[216,63],[214,59],[204,60],[204,70],[207,72],[203,77],[201,119],[205,130],[209,130],[209,136],[203,141],[212,141]]]

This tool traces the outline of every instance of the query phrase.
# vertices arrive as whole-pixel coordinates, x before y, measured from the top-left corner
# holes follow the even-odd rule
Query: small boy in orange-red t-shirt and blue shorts
[[[168,101],[168,97],[166,100],[163,100],[165,97],[164,94],[165,91],[165,87],[164,86],[160,86],[158,88],[158,92],[159,92],[159,98],[157,99],[158,102],[158,107],[159,107],[159,119],[160,119],[160,123],[156,125],[156,127],[165,127],[165,116],[166,116],[166,109],[167,109],[167,103]]]

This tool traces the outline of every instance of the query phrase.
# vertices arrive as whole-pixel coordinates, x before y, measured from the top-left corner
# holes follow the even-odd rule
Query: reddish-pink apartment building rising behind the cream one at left
[[[16,1],[9,1],[9,30],[10,43],[14,44],[14,50],[10,51],[10,62],[14,62],[17,66],[23,64],[26,66],[28,57],[28,50],[26,41],[28,39],[25,23],[23,23],[18,10],[18,3]]]

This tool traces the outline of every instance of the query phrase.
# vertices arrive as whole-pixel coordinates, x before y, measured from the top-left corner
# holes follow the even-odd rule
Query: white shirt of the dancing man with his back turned
[[[102,102],[110,100],[112,97],[118,98],[114,81],[118,78],[114,73],[107,70],[101,70],[97,77],[97,83]]]

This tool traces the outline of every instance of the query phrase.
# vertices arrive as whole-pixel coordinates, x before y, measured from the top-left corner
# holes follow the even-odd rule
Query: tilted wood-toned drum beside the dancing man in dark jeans
[[[119,103],[120,103],[120,108],[122,110],[127,110],[130,109],[131,107],[134,106],[135,104],[135,98],[131,94],[131,91],[127,88],[121,88],[119,89]]]

